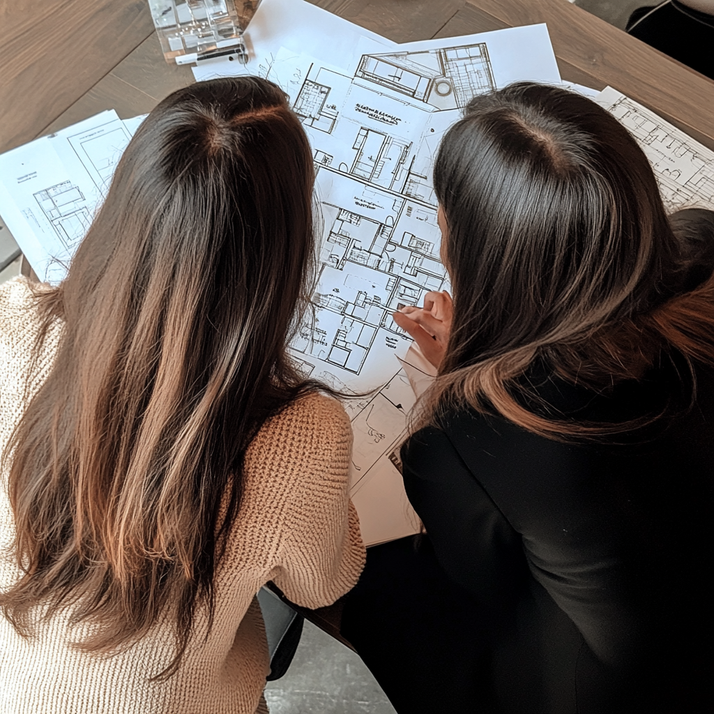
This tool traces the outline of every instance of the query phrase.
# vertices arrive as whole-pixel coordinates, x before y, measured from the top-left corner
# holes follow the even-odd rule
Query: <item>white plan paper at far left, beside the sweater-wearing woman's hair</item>
[[[64,278],[142,119],[103,111],[0,156],[0,213],[40,280]]]

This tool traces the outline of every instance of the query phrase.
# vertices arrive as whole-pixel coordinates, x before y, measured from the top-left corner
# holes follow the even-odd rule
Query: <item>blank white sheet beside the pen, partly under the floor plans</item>
[[[303,0],[263,0],[248,24],[245,40],[247,65],[226,57],[204,60],[192,68],[196,81],[246,74],[265,77],[281,47],[353,69],[361,41],[370,49],[396,46],[386,37]]]

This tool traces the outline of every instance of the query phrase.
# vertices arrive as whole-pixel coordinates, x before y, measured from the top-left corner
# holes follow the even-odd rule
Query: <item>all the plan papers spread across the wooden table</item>
[[[548,31],[534,25],[396,45],[302,0],[263,0],[246,36],[248,66],[216,59],[194,74],[266,77],[303,123],[324,230],[316,318],[293,356],[345,393],[371,391],[345,403],[355,436],[351,495],[366,543],[409,535],[418,518],[398,447],[415,402],[399,361],[411,339],[391,314],[448,287],[433,161],[476,94],[518,80],[560,84]],[[712,152],[614,90],[565,86],[596,97],[633,131],[670,209],[714,208]],[[104,112],[0,156],[0,213],[40,278],[64,276],[141,119]]]

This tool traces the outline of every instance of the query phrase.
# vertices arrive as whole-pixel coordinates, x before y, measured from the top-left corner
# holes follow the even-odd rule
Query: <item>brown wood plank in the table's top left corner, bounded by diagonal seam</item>
[[[49,124],[154,31],[146,0],[0,0],[0,151]]]

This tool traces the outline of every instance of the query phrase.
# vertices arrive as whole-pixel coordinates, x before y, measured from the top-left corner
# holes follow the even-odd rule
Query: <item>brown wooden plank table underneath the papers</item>
[[[546,22],[563,79],[610,84],[714,149],[714,82],[566,0],[313,1],[398,42]],[[146,0],[3,0],[0,26],[0,151],[193,82],[164,61]],[[339,604],[301,612],[338,636]]]

